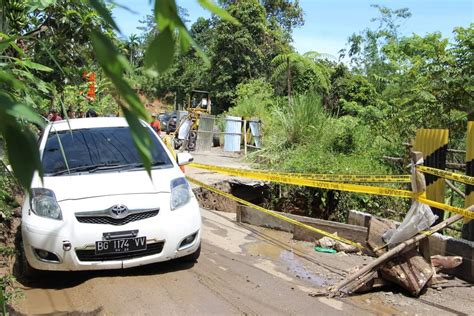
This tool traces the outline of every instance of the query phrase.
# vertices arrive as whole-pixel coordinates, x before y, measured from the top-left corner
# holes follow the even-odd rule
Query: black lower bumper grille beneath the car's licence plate
[[[146,250],[107,254],[96,254],[95,249],[76,249],[76,255],[79,261],[112,261],[134,259],[159,254],[163,250],[164,244],[164,241],[160,241],[147,244]]]

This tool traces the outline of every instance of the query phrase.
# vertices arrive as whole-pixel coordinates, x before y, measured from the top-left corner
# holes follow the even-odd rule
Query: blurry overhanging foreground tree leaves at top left
[[[62,68],[61,64],[56,61],[56,58],[54,58],[54,56],[50,54],[50,51],[45,48],[48,46],[43,46],[48,38],[42,38],[42,33],[44,32],[42,26],[48,26],[47,29],[49,27],[54,28],[57,33],[60,33],[68,39],[67,41],[64,40],[64,43],[50,44],[66,45],[66,43],[69,42],[69,39],[75,39],[76,37],[86,37],[89,39],[84,42],[83,46],[93,48],[97,63],[115,87],[116,95],[120,96],[120,99],[117,98],[117,102],[119,103],[130,126],[132,139],[141,160],[143,161],[146,170],[150,172],[151,138],[146,128],[139,121],[139,119],[148,120],[149,117],[143,104],[140,102],[139,97],[131,88],[130,84],[123,78],[123,73],[130,68],[130,64],[120,53],[117,45],[114,43],[114,36],[111,30],[112,28],[116,31],[120,30],[113,20],[110,11],[100,0],[89,0],[88,4],[90,6],[87,6],[87,3],[77,0],[64,1],[64,3],[61,2],[61,4],[67,8],[70,8],[69,5],[76,6],[79,9],[94,8],[94,12],[90,12],[91,14],[85,16],[78,13],[77,10],[67,10],[65,13],[73,17],[72,20],[74,23],[72,25],[78,26],[77,23],[79,23],[79,27],[64,30],[61,29],[61,24],[63,24],[65,19],[62,17],[58,19],[57,15],[55,15],[56,11],[53,10],[53,8],[56,10],[64,8],[55,7],[54,0],[31,0],[29,3],[35,8],[34,10],[41,8],[38,9],[39,12],[38,15],[36,15],[37,21],[41,22],[37,23],[37,21],[33,21],[28,24],[27,27],[38,25],[39,28],[33,31],[29,29],[22,30],[19,34],[22,34],[23,36],[17,36],[17,34],[1,34],[0,39],[2,52],[8,51],[8,53],[13,55],[4,55],[1,57],[2,59],[7,59],[7,66],[3,67],[0,72],[0,85],[4,88],[2,89],[2,92],[0,92],[0,134],[6,141],[9,161],[12,165],[15,176],[19,179],[22,186],[25,189],[29,189],[34,172],[38,171],[40,175],[42,174],[42,167],[35,138],[28,129],[28,126],[23,122],[29,121],[41,126],[43,124],[43,119],[23,103],[26,98],[25,91],[32,90],[29,92],[34,93],[36,92],[36,89],[26,89],[24,82],[19,80],[23,78],[20,78],[13,70],[16,68],[15,66],[18,65],[27,70],[24,77],[31,78],[31,76],[34,76],[33,72],[51,71],[51,68],[31,61],[25,54],[27,50],[22,49],[19,44],[23,45],[23,42],[34,40],[32,44],[35,45],[35,49],[32,49],[31,46],[29,46],[29,51],[33,52],[35,57],[37,55],[49,55],[50,58],[55,61],[54,66],[58,69]],[[44,6],[45,3],[46,6]],[[215,6],[213,2],[206,2],[205,6],[215,14],[237,23],[234,18],[232,18],[226,11]],[[52,10],[54,12],[51,12]],[[5,12],[1,12],[1,14],[3,20]],[[95,19],[95,16],[99,16],[100,18]],[[197,50],[199,50],[199,48],[189,36],[184,22],[179,17],[178,9],[174,0],[155,1],[154,16],[158,22],[158,32],[147,48],[145,54],[145,65],[150,70],[163,72],[172,64],[174,58],[174,35],[179,39],[178,42],[181,51],[186,52],[190,46],[194,46]],[[69,23],[70,21],[67,22]],[[19,23],[17,24],[20,25]],[[84,51],[90,52],[90,49],[85,49],[83,46],[79,48],[83,48]],[[66,50],[63,53],[68,54],[68,51]],[[73,52],[72,56],[65,56],[65,58],[78,58],[75,53],[76,52]],[[205,58],[204,55],[202,56]],[[61,73],[66,72],[63,70]],[[63,78],[67,77],[64,76]],[[59,85],[61,81],[57,80],[56,82]],[[22,145],[15,146],[17,143]]]

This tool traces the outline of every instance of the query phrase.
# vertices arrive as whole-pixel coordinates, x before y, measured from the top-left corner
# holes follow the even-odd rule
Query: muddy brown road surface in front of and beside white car
[[[26,297],[18,303],[18,311],[127,315],[360,311],[341,301],[308,296],[314,285],[326,280],[305,270],[302,259],[291,260],[288,265],[285,260],[273,261],[272,254],[275,258],[297,256],[285,244],[279,245],[276,236],[239,226],[229,219],[229,214],[206,210],[202,213],[203,252],[198,263],[51,273],[24,288]]]

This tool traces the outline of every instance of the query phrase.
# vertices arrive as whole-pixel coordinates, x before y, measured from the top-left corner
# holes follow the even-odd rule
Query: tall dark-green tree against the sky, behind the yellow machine
[[[269,29],[265,9],[257,0],[235,1],[227,6],[240,25],[219,21],[211,47],[210,87],[217,110],[226,110],[235,87],[251,78],[268,76],[268,65],[278,53],[278,41]]]

